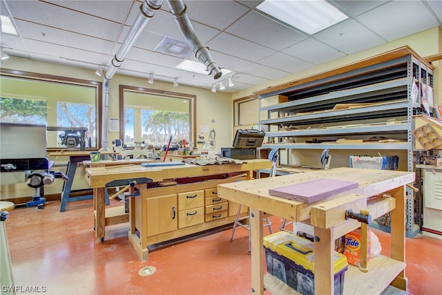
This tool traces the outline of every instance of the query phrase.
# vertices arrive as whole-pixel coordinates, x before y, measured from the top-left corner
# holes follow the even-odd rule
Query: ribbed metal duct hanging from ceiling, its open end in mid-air
[[[193,53],[195,57],[206,66],[209,71],[209,75],[213,72],[213,77],[219,79],[222,76],[222,72],[219,66],[213,61],[209,48],[200,41],[200,38],[195,33],[195,29],[187,17],[186,4],[182,0],[168,0],[169,8],[171,8],[172,15],[175,17],[178,27],[180,28],[182,35],[186,38],[187,43],[193,47]]]

